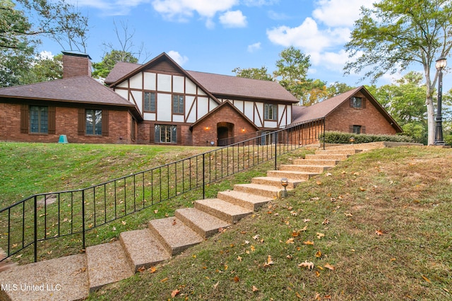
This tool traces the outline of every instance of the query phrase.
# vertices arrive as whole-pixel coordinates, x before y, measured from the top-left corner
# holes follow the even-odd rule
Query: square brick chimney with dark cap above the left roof
[[[63,52],[63,78],[91,76],[91,58],[82,52]]]

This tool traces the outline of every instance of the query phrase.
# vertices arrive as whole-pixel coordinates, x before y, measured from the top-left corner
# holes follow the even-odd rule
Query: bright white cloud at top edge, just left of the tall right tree
[[[361,6],[371,7],[374,0],[319,0],[312,16],[328,26],[352,27]]]

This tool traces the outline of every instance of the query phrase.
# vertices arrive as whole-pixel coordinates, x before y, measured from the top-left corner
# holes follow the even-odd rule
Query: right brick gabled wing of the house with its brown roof
[[[292,107],[292,123],[325,118],[326,131],[394,135],[403,130],[364,87],[309,107]]]

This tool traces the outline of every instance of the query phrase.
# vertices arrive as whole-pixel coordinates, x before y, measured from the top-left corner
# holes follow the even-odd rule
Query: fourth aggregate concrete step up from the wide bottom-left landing
[[[206,232],[206,235],[212,232],[218,232],[218,229],[225,228],[230,225],[230,223],[227,223],[225,220],[211,216],[210,214],[196,208],[180,208],[177,209],[176,213],[190,220],[191,223],[196,225],[196,227],[201,229],[203,232]]]

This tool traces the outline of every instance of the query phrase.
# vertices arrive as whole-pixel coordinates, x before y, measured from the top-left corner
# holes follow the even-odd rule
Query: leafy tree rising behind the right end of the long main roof
[[[311,66],[309,55],[290,46],[280,52],[279,57],[280,59],[276,61],[277,69],[273,72],[273,76],[280,78],[279,83],[295,98],[301,100],[304,93],[304,84],[307,82],[308,69]],[[304,105],[303,102],[302,105]]]

